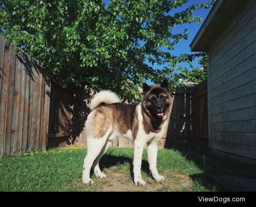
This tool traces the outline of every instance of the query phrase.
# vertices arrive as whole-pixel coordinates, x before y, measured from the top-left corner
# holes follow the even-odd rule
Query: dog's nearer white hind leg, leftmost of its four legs
[[[93,185],[93,180],[90,178],[90,171],[93,165],[94,160],[100,154],[101,150],[103,149],[106,140],[108,139],[110,133],[112,131],[112,127],[109,127],[106,130],[106,133],[100,138],[97,139],[95,137],[90,137],[87,139],[87,155],[84,158],[83,163],[83,172],[82,172],[82,181],[84,184]]]

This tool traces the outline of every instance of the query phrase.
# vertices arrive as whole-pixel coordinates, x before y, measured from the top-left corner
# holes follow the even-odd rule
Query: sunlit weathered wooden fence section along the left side
[[[50,80],[41,64],[0,35],[0,156],[45,150]]]

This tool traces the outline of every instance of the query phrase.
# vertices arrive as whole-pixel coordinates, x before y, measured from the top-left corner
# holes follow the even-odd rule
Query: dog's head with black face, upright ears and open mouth
[[[173,102],[170,94],[167,80],[161,84],[147,85],[143,84],[143,105],[152,116],[162,118],[169,111],[169,107]]]

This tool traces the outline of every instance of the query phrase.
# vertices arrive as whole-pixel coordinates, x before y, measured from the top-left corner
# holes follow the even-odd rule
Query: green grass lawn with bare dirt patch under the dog
[[[161,149],[158,170],[165,180],[157,182],[148,171],[144,150],[142,176],[147,185],[136,187],[131,173],[133,148],[110,148],[100,162],[107,177],[98,179],[92,174],[95,185],[86,186],[81,180],[86,151],[87,148],[71,146],[4,156],[0,158],[0,191],[216,191],[205,182],[204,172],[237,165],[235,161],[225,163],[224,159],[214,160],[201,153]]]

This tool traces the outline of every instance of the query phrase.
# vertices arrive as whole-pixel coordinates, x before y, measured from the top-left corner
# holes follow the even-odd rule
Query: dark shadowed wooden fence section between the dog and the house
[[[209,152],[207,81],[193,87],[178,87],[173,95],[168,130],[160,148]]]

